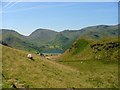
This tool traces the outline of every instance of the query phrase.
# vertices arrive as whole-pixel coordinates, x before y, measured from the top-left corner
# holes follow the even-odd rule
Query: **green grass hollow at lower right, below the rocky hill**
[[[77,69],[81,78],[90,83],[94,88],[118,87],[118,63],[114,61],[98,60],[69,60],[58,61],[60,64]]]

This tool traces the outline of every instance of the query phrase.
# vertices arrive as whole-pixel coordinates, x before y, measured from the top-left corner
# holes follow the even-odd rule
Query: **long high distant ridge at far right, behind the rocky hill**
[[[81,29],[82,38],[100,39],[104,37],[118,36],[118,25],[97,25]]]

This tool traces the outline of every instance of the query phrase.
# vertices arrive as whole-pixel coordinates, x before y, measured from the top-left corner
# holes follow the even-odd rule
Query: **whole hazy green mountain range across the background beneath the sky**
[[[37,29],[29,36],[23,36],[16,31],[2,29],[1,43],[32,52],[62,51],[64,52],[77,38],[100,39],[118,35],[117,25],[97,25],[80,30],[64,30],[56,32],[49,29]]]

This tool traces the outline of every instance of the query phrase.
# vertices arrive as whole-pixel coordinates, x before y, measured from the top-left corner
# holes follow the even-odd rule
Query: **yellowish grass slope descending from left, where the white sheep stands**
[[[27,52],[2,47],[3,88],[10,88],[16,83],[17,87],[29,88],[94,87],[86,82],[86,75],[80,78],[83,73],[75,69],[36,55],[31,61],[26,57]]]

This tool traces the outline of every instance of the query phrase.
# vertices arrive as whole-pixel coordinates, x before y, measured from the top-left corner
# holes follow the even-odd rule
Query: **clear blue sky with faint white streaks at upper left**
[[[38,28],[79,30],[118,23],[117,2],[2,2],[0,28],[29,35]]]

